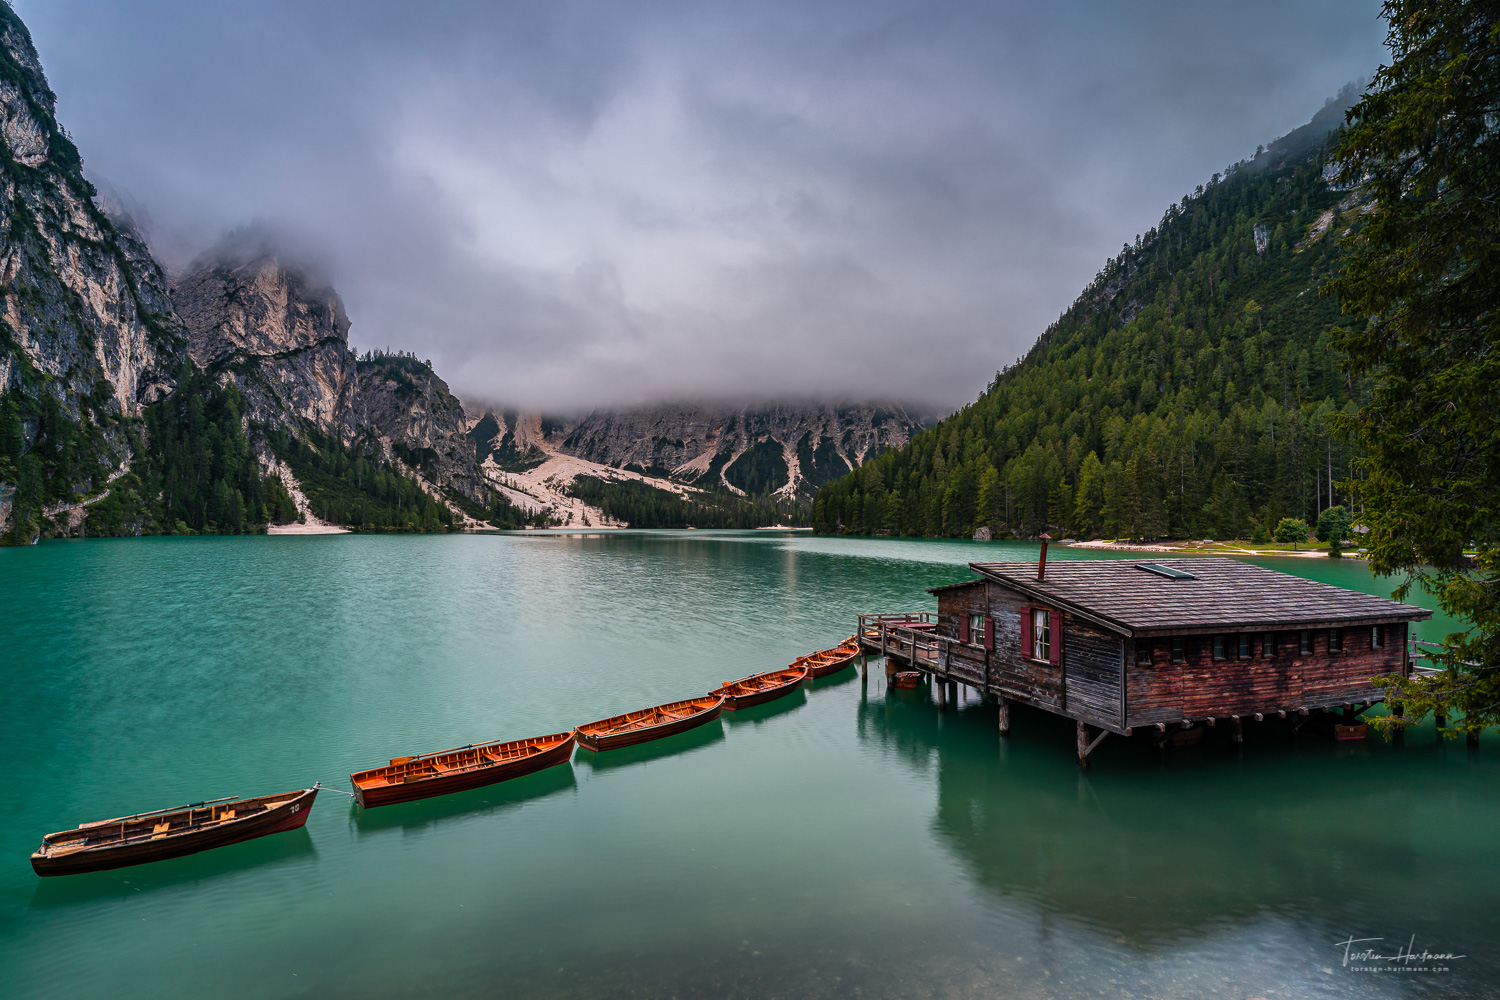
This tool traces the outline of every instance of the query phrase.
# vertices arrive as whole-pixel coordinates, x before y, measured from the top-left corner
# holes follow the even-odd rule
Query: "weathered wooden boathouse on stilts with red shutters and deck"
[[[862,615],[886,670],[924,670],[939,705],[957,684],[1077,721],[1078,762],[1108,733],[1172,733],[1338,711],[1410,676],[1407,627],[1432,613],[1227,558],[970,562],[934,586],[938,613]],[[1096,732],[1094,732],[1096,730]]]

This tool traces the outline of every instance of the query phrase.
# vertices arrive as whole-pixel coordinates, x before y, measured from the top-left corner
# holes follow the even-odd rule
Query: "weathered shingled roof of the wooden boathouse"
[[[1191,579],[1143,568],[1148,564]],[[970,562],[969,568],[1130,636],[1316,628],[1432,616],[1420,607],[1239,559],[1054,559],[1047,564],[1046,580],[1036,579],[1035,562]]]

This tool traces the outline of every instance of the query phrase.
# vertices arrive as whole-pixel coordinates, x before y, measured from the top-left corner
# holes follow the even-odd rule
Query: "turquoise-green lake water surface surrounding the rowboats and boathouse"
[[[1264,724],[1234,753],[1218,727],[1166,757],[1112,736],[1080,774],[1071,723],[1018,711],[1002,742],[993,705],[940,714],[878,664],[490,789],[322,795],[304,831],[195,858],[27,862],[81,820],[346,789],[394,754],[688,697],[1034,553],[774,532],[0,550],[0,996],[1497,996],[1492,735]],[[1356,561],[1262,562],[1390,589]],[[1360,972],[1338,946],[1413,936],[1464,958]]]

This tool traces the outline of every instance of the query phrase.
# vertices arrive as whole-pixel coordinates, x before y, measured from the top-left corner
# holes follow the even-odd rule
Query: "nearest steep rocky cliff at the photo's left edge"
[[[100,489],[130,459],[126,418],[188,360],[160,267],[94,202],[54,105],[0,7],[0,523],[12,501]]]

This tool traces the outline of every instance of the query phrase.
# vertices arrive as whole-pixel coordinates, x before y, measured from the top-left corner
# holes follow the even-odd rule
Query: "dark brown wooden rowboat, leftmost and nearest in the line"
[[[321,784],[282,795],[262,795],[177,805],[112,820],[80,823],[78,829],[48,834],[32,855],[39,876],[72,876],[183,858],[201,850],[238,844],[267,834],[294,831],[308,822]]]

